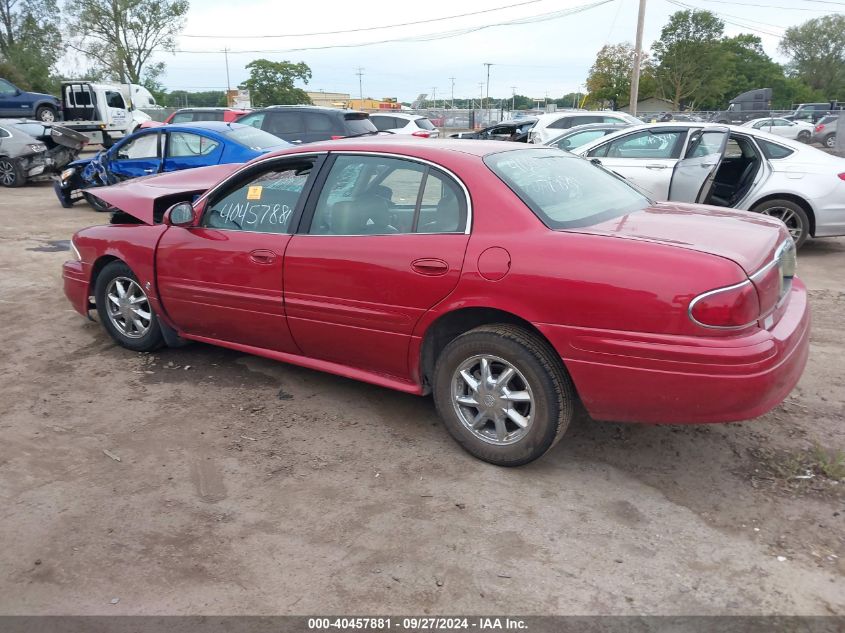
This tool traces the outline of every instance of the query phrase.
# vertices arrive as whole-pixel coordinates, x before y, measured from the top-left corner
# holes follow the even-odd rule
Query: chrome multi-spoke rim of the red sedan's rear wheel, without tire
[[[499,446],[525,437],[534,415],[534,394],[508,361],[486,354],[461,363],[452,376],[452,405],[476,437]]]

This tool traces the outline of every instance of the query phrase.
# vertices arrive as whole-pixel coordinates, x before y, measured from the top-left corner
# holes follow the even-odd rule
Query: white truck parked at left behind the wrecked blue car
[[[144,94],[146,93],[146,94]],[[143,99],[141,98],[143,96]],[[98,84],[68,81],[62,84],[62,125],[87,136],[104,147],[132,134],[150,116],[138,110],[134,101],[155,103],[152,95],[135,84]]]

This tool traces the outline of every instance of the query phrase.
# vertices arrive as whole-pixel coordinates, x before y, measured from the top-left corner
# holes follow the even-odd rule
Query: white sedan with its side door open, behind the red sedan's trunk
[[[845,235],[845,159],[751,127],[635,125],[578,148],[654,200],[779,218],[797,246]]]

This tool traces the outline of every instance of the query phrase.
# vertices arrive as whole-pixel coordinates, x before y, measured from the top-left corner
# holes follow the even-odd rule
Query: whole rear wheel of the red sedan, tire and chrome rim
[[[541,338],[518,326],[485,325],[443,349],[434,400],[449,433],[468,452],[498,466],[519,466],[563,436],[575,390]]]

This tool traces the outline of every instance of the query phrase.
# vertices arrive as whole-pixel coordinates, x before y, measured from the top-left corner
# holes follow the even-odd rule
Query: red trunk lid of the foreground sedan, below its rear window
[[[656,203],[642,211],[577,229],[579,233],[641,240],[711,253],[753,275],[789,238],[780,220],[759,213],[681,203]]]

